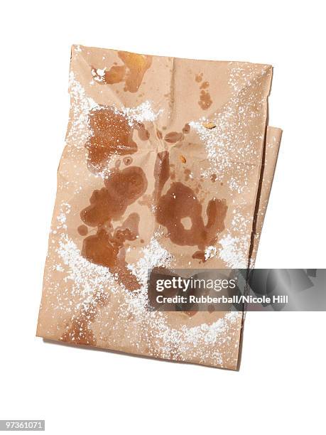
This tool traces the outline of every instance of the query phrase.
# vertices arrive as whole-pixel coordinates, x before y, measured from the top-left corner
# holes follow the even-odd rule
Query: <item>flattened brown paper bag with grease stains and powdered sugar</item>
[[[242,313],[147,309],[148,269],[253,267],[272,68],[72,47],[37,335],[236,369]]]

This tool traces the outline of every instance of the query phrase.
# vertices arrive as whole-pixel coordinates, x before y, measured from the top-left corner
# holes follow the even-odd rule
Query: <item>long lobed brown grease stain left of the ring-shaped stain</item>
[[[104,185],[104,188],[94,190],[89,199],[90,205],[80,213],[85,224],[97,227],[95,235],[84,239],[82,256],[89,262],[108,267],[132,291],[138,288],[138,282],[127,269],[124,242],[135,240],[138,236],[139,216],[131,213],[113,234],[111,221],[121,219],[128,205],[143,195],[147,179],[141,168],[129,166],[122,171],[116,170],[104,181]]]

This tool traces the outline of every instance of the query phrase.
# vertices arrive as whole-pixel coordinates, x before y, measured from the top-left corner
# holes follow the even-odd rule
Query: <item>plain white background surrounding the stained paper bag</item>
[[[64,435],[325,434],[325,313],[248,313],[239,372],[35,338],[72,43],[274,65],[283,139],[256,267],[325,267],[323,3],[2,4],[0,419]]]

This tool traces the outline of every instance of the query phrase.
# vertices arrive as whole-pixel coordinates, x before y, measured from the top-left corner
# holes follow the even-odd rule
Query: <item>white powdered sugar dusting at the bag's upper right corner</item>
[[[209,178],[214,174],[219,181],[229,177],[229,188],[237,193],[242,193],[253,166],[260,164],[261,156],[256,144],[263,141],[263,136],[258,121],[266,96],[259,80],[268,71],[266,68],[257,71],[251,64],[244,65],[245,68],[229,63],[229,87],[232,90],[229,100],[210,119],[202,117],[190,122],[190,127],[205,144],[210,161],[210,168],[201,175]],[[205,127],[207,124],[214,128]]]

